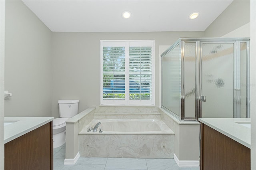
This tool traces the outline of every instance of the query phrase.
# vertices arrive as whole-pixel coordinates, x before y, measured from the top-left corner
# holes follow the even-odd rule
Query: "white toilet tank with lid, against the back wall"
[[[60,117],[71,118],[78,113],[79,100],[58,100]]]

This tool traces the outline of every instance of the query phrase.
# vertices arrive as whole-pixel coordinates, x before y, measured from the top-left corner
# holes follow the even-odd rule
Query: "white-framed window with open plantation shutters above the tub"
[[[100,41],[100,105],[154,105],[154,41]]]

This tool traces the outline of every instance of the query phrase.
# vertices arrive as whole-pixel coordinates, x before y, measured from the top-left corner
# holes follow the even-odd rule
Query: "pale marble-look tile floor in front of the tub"
[[[75,165],[63,165],[65,149],[65,144],[54,149],[54,170],[199,170],[199,167],[178,167],[174,159],[80,157]]]

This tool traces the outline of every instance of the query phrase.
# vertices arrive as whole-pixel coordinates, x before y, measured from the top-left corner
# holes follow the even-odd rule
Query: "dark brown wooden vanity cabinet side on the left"
[[[4,144],[5,170],[53,170],[52,121]]]

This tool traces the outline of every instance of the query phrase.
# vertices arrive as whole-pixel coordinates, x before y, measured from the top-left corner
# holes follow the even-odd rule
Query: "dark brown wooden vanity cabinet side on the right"
[[[201,123],[200,170],[250,170],[250,148]]]

